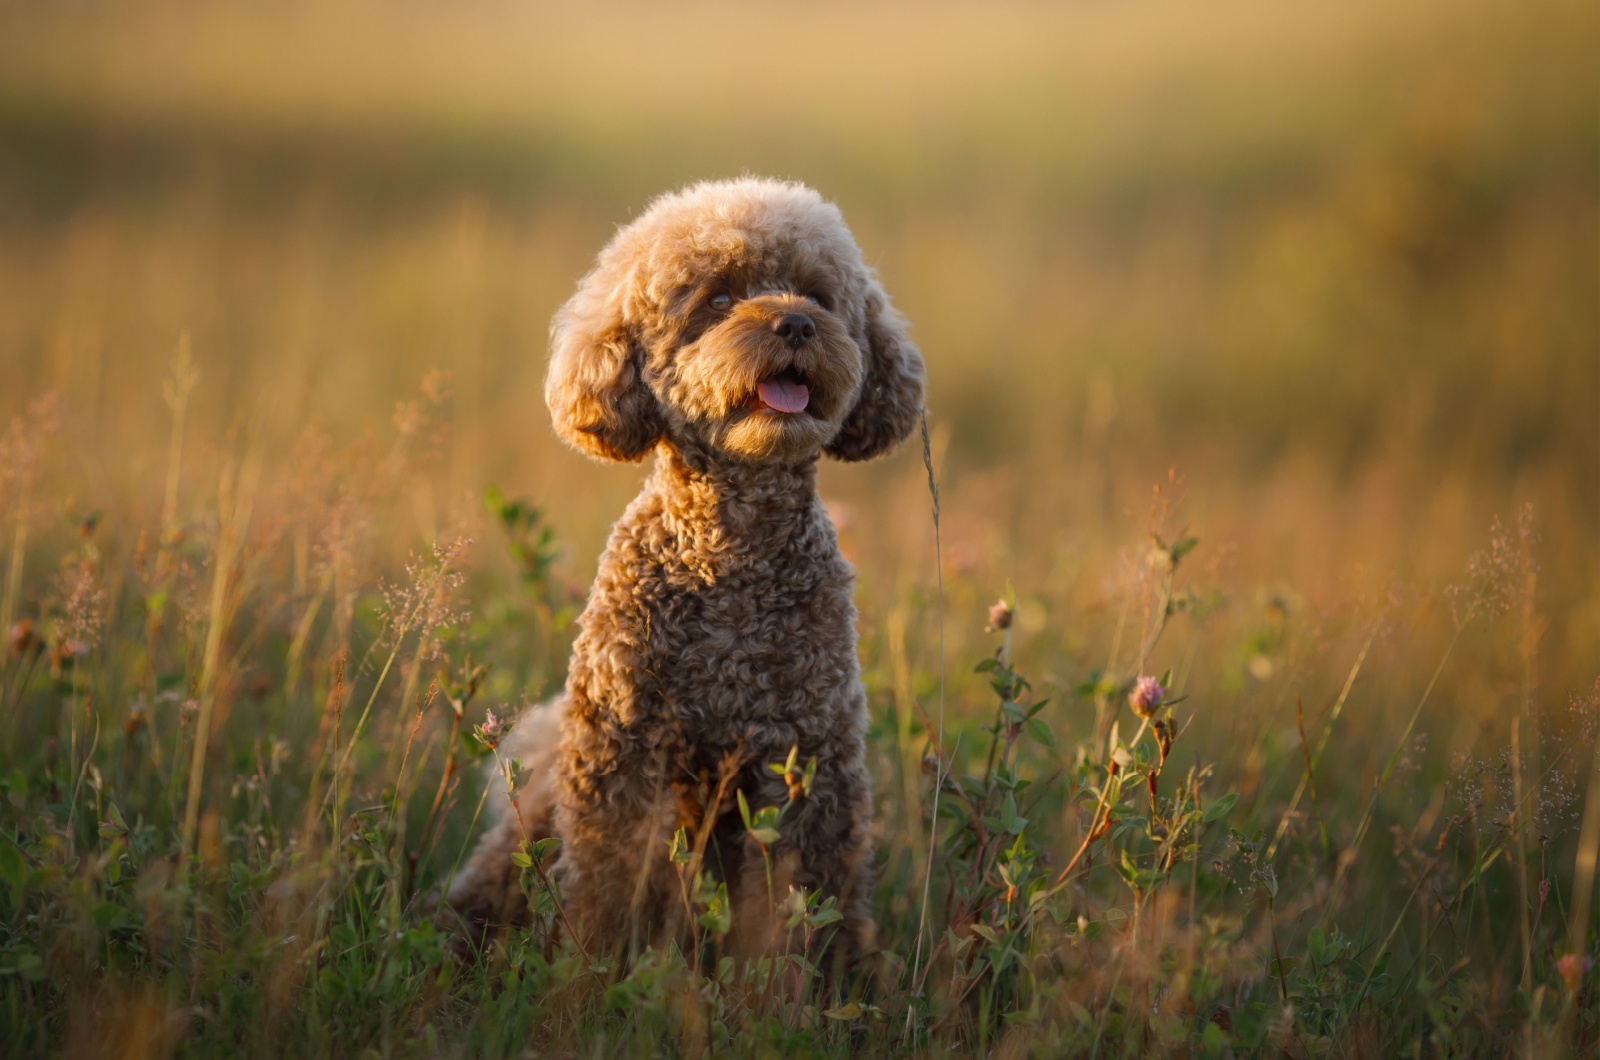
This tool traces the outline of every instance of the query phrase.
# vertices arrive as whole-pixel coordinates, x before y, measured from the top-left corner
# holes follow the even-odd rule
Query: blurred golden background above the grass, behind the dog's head
[[[1010,580],[1082,655],[1174,498],[1234,599],[1323,615],[1458,578],[1531,503],[1558,700],[1600,645],[1597,14],[6,5],[0,420],[59,394],[64,508],[154,522],[187,333],[202,493],[227,453],[421,402],[397,554],[496,484],[581,588],[642,472],[554,439],[550,312],[653,195],[794,178],[926,354],[952,652]],[[931,573],[917,448],[824,472],[869,623]]]

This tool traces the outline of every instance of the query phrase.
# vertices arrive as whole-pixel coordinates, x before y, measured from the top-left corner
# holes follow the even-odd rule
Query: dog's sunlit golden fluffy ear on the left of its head
[[[602,460],[635,461],[661,439],[643,349],[622,317],[624,282],[602,264],[550,322],[544,402],[568,445]]]

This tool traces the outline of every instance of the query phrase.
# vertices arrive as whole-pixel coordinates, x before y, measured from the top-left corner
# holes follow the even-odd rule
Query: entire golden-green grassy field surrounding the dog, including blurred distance
[[[0,8],[8,1055],[1594,1055],[1597,29]],[[530,866],[456,959],[472,730],[640,480],[549,315],[739,171],[928,359],[926,450],[822,472],[882,953],[722,962],[686,879],[694,953],[597,962]]]

